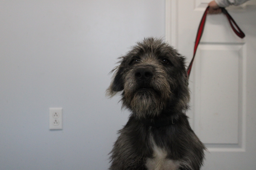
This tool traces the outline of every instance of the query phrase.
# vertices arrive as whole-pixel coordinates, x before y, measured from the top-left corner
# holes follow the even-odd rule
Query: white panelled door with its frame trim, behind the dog
[[[188,64],[209,2],[166,0],[166,41]],[[189,78],[188,116],[208,149],[202,169],[256,169],[256,0],[227,10],[246,37],[225,15],[207,15]]]

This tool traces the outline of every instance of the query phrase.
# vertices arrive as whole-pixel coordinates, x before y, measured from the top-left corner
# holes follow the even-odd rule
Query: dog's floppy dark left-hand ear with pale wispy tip
[[[115,72],[114,78],[113,78],[109,88],[106,90],[106,96],[112,97],[118,91],[122,91],[124,89],[124,80],[123,80],[124,68],[119,66],[117,69],[118,70]],[[112,72],[114,70],[112,70]]]

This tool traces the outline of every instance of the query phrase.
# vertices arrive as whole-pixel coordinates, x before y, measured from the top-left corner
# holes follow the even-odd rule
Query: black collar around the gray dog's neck
[[[144,125],[152,126],[152,127],[163,127],[163,126],[168,126],[168,125],[174,125],[175,123],[178,122],[178,120],[174,119],[173,117],[171,117],[171,118],[166,117],[166,118],[154,119],[154,120],[142,119],[140,121]]]

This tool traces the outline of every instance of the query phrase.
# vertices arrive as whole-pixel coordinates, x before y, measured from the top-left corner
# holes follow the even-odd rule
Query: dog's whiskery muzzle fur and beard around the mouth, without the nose
[[[131,109],[139,118],[154,118],[161,114],[167,100],[172,96],[166,73],[157,70],[146,87],[136,81],[134,72],[127,74],[122,107]]]

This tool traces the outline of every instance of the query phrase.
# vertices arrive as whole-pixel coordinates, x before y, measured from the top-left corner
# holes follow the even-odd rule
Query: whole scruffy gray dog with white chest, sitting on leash
[[[204,145],[191,129],[185,59],[161,39],[145,38],[120,58],[107,95],[122,92],[129,121],[111,151],[111,170],[199,170]]]

